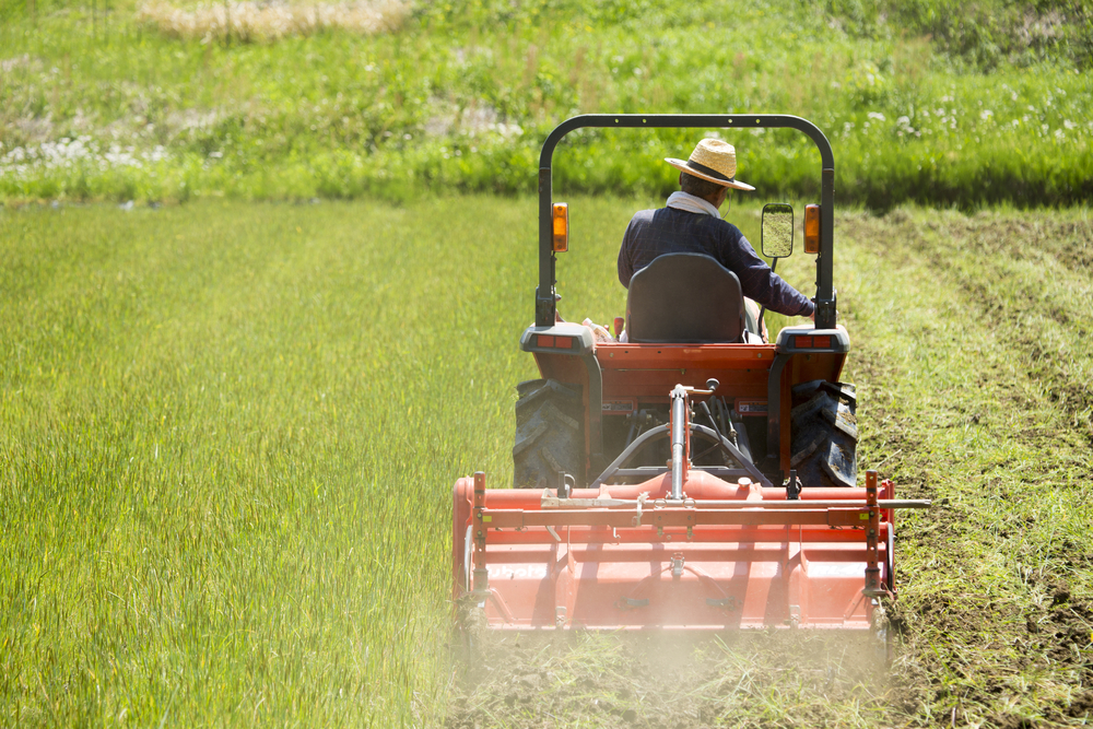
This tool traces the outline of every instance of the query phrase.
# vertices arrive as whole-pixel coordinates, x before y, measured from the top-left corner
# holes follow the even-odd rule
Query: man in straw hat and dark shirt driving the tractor
[[[665,162],[680,171],[681,191],[672,192],[668,207],[642,210],[630,221],[619,249],[622,285],[628,289],[634,273],[657,256],[705,254],[740,279],[750,331],[756,330],[759,304],[786,316],[813,317],[815,305],[772,271],[736,225],[721,220],[718,209],[730,187],[755,189],[736,179],[737,153],[732,145],[704,139],[686,162],[671,157]]]

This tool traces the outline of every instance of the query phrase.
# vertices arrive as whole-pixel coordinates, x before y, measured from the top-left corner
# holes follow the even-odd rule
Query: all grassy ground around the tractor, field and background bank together
[[[419,0],[255,43],[142,8],[0,0],[0,727],[1089,724],[1089,0]],[[450,489],[512,479],[543,138],[752,110],[832,141],[861,466],[937,504],[895,661],[576,635],[468,677]],[[752,240],[818,197],[760,131],[718,132]],[[623,313],[621,233],[702,133],[560,146],[564,316]]]

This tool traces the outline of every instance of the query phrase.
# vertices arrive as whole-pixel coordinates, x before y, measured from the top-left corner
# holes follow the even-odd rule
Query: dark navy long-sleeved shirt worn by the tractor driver
[[[771,270],[740,230],[702,213],[661,208],[637,212],[619,249],[619,281],[630,287],[636,271],[665,254],[705,254],[737,274],[744,296],[786,316],[811,316],[815,305]]]

